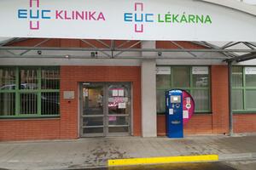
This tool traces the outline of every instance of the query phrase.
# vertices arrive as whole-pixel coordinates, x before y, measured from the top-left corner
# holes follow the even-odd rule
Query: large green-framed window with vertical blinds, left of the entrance
[[[0,118],[59,116],[60,71],[0,67]]]

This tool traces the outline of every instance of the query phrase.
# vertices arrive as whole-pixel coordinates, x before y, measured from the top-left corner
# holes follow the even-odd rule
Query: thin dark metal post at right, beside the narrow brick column
[[[232,111],[232,61],[228,62],[229,72],[229,127],[230,136],[233,136],[233,111]]]

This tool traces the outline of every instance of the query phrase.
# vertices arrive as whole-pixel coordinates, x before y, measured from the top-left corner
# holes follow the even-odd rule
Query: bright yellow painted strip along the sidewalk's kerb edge
[[[171,156],[171,157],[147,157],[108,160],[108,167],[127,166],[127,165],[147,165],[172,162],[193,162],[193,161],[218,161],[218,155],[202,156]]]

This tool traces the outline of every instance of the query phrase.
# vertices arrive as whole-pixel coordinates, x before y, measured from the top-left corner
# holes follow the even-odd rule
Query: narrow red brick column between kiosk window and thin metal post
[[[229,87],[227,65],[212,65],[212,132],[229,132]]]

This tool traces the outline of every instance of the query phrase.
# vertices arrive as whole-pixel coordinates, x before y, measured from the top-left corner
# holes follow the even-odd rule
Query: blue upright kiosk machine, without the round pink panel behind
[[[166,92],[166,134],[169,138],[183,138],[183,91]]]

